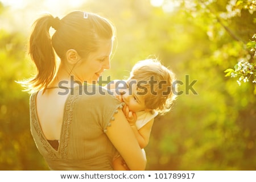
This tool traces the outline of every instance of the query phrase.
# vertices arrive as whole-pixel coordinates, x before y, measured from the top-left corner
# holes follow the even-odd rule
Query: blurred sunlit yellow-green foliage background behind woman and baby
[[[255,1],[0,0],[1,170],[48,170],[30,134],[29,95],[15,81],[34,69],[27,55],[34,20],[73,10],[101,14],[117,28],[103,77],[128,76],[136,61],[155,55],[183,83],[170,113],[155,118],[147,170],[256,169],[254,78],[238,85],[224,73],[242,59],[255,63],[246,47],[256,33]]]

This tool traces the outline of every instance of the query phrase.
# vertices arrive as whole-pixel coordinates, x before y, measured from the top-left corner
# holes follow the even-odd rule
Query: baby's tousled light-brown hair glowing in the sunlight
[[[154,78],[154,94],[152,93],[152,81]],[[130,72],[129,79],[135,79],[137,84],[143,82],[144,88],[147,88],[147,94],[144,96],[147,109],[157,111],[159,115],[166,114],[171,110],[176,95],[172,83],[176,80],[175,74],[164,67],[158,59],[146,59],[138,61]],[[138,86],[138,85],[137,85]]]

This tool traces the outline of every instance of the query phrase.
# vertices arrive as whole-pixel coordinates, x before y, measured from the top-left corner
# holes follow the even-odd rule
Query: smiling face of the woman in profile
[[[112,54],[113,41],[101,40],[100,47],[96,52],[89,53],[86,59],[77,63],[73,72],[77,80],[82,84],[96,84],[98,78],[105,69],[110,68],[110,55]]]

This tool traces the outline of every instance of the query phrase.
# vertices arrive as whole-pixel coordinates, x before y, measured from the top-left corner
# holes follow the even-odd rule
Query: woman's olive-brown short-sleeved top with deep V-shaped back
[[[122,103],[97,85],[69,91],[57,150],[43,134],[36,113],[37,93],[31,94],[30,125],[36,147],[51,170],[113,170],[117,151],[105,132]]]

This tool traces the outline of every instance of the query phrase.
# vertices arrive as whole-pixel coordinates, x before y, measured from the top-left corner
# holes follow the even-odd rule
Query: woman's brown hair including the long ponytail
[[[55,28],[52,37],[49,28]],[[36,75],[19,83],[27,92],[46,89],[57,70],[55,52],[61,61],[66,59],[66,52],[75,49],[83,58],[90,52],[97,51],[100,40],[113,40],[115,27],[106,18],[84,11],[72,11],[59,19],[51,14],[43,15],[34,23],[30,36],[29,53],[36,65]]]

